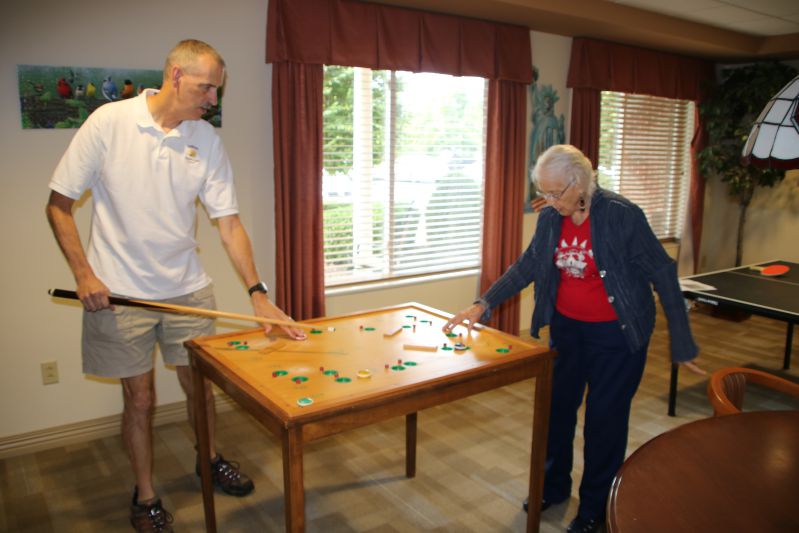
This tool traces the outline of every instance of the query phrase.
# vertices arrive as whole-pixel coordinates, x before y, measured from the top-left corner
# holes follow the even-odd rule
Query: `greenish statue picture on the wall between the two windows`
[[[558,92],[552,85],[543,85],[538,82],[538,67],[533,67],[533,83],[530,85],[530,104],[532,107],[530,133],[530,158],[528,168],[527,195],[525,196],[524,210],[532,212],[530,202],[535,198],[535,187],[532,184],[533,169],[538,156],[552,145],[566,142],[565,122],[563,113],[555,116],[555,104],[560,100]]]

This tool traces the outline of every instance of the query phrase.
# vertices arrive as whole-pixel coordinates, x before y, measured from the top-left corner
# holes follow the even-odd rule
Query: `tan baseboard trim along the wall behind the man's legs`
[[[214,404],[216,411],[219,413],[228,411],[235,406],[233,400],[219,393],[214,396]],[[153,415],[154,426],[183,420],[186,420],[186,402],[174,402],[159,405],[155,408],[155,414]],[[2,437],[0,438],[0,459],[119,435],[121,423],[122,413],[74,424],[40,429],[30,433]]]

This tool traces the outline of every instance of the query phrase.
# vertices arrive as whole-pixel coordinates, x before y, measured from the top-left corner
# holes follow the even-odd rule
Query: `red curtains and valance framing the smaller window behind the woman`
[[[593,39],[572,42],[567,87],[573,89],[570,138],[596,168],[599,160],[600,91],[648,94],[700,103],[714,79],[714,65],[703,59]],[[704,146],[704,128],[696,114],[691,143],[691,227],[694,257],[699,257],[705,178],[696,154]],[[694,265],[698,264],[695,261]]]

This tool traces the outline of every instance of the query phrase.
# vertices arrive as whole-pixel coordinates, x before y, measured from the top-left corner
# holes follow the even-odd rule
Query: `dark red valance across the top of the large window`
[[[533,78],[528,28],[354,0],[269,0],[266,61]]]

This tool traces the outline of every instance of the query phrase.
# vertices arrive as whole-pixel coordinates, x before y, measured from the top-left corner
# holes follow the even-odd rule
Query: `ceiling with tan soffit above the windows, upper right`
[[[799,0],[371,0],[717,61],[799,59]]]

